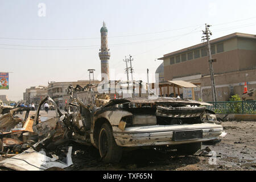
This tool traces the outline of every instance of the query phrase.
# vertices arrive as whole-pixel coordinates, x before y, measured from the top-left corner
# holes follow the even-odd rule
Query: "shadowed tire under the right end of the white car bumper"
[[[178,155],[193,155],[198,150],[201,150],[202,142],[187,143],[177,145]]]

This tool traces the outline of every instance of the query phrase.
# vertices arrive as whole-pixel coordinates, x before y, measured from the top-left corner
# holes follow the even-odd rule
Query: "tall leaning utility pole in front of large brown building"
[[[214,82],[214,73],[213,73],[213,66],[212,63],[216,60],[212,59],[212,53],[210,52],[210,38],[209,35],[212,35],[212,32],[209,30],[210,25],[205,23],[205,31],[203,31],[204,36],[202,36],[202,41],[207,40],[207,48],[208,48],[208,55],[209,55],[209,67],[210,67],[210,81],[212,82],[212,101],[216,102],[216,89],[215,89],[215,82]]]

